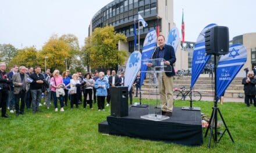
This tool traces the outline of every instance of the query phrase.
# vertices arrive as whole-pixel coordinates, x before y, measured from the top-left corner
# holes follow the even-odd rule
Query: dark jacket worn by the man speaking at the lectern
[[[175,75],[175,71],[174,71],[174,68],[173,68],[173,63],[175,63],[175,61],[176,61],[175,51],[174,51],[174,48],[172,46],[169,46],[169,45],[166,45],[166,44],[165,44],[164,48],[165,48],[165,53],[164,53],[165,55],[164,55],[163,59],[165,59],[166,61],[169,61],[170,62],[170,67],[172,67],[172,72],[165,72],[165,74],[168,77],[172,77],[172,76]],[[155,52],[152,54],[151,59],[158,59],[159,58],[159,49],[160,49],[159,47],[157,47],[157,49],[155,49]],[[168,67],[165,68],[165,71],[169,71]]]

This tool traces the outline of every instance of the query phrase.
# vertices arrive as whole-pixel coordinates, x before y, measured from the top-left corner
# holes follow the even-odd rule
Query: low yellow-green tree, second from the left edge
[[[24,65],[26,67],[38,65],[38,52],[34,46],[17,50],[16,55],[10,60],[8,67],[13,65]]]

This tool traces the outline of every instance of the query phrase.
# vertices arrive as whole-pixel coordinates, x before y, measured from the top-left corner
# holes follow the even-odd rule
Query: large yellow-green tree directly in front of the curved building
[[[111,68],[123,64],[127,54],[125,50],[118,50],[119,41],[126,42],[126,36],[117,34],[112,26],[95,28],[83,48],[84,62],[91,68]]]

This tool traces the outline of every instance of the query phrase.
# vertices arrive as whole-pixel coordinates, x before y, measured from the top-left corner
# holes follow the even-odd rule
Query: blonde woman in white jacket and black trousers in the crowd
[[[73,108],[73,105],[76,104],[76,108],[78,108],[78,99],[77,99],[77,84],[80,84],[77,74],[72,75],[72,79],[70,80],[70,108]]]

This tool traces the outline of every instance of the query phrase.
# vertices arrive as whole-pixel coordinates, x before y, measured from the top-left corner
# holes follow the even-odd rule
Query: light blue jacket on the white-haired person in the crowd
[[[106,91],[106,89],[109,88],[109,83],[106,80],[106,78],[103,78],[103,79],[98,78],[94,84],[94,88],[96,88],[96,96],[107,96],[108,92]]]

